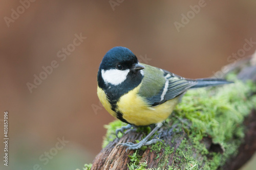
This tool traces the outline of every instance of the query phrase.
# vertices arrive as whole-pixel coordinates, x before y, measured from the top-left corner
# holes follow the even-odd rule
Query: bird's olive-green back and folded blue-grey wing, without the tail
[[[186,80],[172,72],[143,65],[145,66],[144,78],[138,94],[144,97],[150,106],[157,106],[174,99],[197,84],[194,80]]]

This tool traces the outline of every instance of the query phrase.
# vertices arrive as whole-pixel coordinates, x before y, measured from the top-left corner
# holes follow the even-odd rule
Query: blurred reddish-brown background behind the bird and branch
[[[101,150],[103,125],[114,119],[96,94],[98,66],[110,48],[125,46],[141,62],[202,78],[230,63],[228,56],[245,39],[256,41],[253,0],[206,0],[178,32],[174,23],[182,24],[181,14],[199,2],[0,1],[0,119],[9,112],[9,169],[76,169],[92,162]],[[87,38],[72,46],[75,34]],[[67,47],[72,52],[59,58]],[[34,84],[34,75],[54,60],[58,67],[30,92],[27,83]],[[56,150],[62,138],[69,142]],[[8,169],[2,159],[0,168]]]

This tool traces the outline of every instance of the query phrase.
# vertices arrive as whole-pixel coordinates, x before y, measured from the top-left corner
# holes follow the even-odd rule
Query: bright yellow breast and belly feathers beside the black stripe
[[[139,87],[140,85],[121,96],[119,102],[117,102],[117,110],[123,114],[123,118],[130,124],[146,126],[162,122],[172,113],[178,103],[178,99],[174,98],[161,105],[150,107],[146,100],[137,94]],[[116,113],[111,110],[111,104],[106,99],[104,91],[99,87],[98,96],[105,109],[116,117]]]

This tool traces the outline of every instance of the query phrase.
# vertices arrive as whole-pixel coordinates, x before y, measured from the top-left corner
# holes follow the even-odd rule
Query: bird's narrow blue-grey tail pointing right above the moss
[[[196,79],[195,81],[197,82],[197,84],[191,88],[218,86],[218,85],[222,85],[222,84],[233,83],[233,82],[227,81],[225,79],[214,79],[214,78]]]

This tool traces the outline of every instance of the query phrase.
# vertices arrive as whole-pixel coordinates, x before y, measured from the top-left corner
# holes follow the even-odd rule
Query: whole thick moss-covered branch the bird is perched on
[[[238,169],[256,151],[256,66],[251,58],[229,65],[228,79],[251,75],[246,83],[189,90],[165,125],[155,134],[164,141],[125,152],[118,143],[141,140],[150,129],[130,131],[120,139],[108,125],[102,151],[92,169]],[[248,69],[252,68],[252,69]],[[253,69],[254,68],[254,69]],[[248,79],[248,78],[247,78]],[[255,81],[255,80],[254,80]]]

